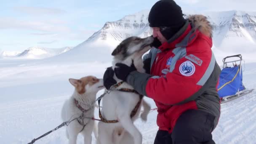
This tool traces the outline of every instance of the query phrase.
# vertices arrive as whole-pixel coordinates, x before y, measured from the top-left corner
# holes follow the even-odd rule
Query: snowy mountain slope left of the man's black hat
[[[77,45],[72,51],[44,61],[111,61],[112,51],[126,37],[134,35],[147,37],[152,35],[147,22],[148,12],[141,11],[125,16],[118,21],[106,22],[98,32],[95,32],[85,42]]]

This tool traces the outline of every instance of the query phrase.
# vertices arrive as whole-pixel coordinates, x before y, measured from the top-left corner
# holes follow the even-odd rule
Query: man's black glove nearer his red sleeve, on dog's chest
[[[126,64],[122,64],[122,63],[117,63],[115,64],[117,67],[114,69],[115,71],[115,75],[117,76],[117,78],[119,78],[120,80],[123,80],[126,82],[126,78],[127,76],[137,70],[136,67],[134,66],[133,64],[133,61],[132,61],[132,64],[131,64],[131,67],[127,66]]]

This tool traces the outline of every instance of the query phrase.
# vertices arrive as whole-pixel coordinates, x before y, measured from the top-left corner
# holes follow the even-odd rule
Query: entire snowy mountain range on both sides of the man
[[[118,21],[106,22],[88,40],[77,45],[73,51],[49,60],[62,61],[111,61],[110,53],[125,38],[152,35],[148,24],[149,10],[123,17]],[[201,14],[201,13],[197,13]],[[247,61],[255,62],[256,13],[224,11],[203,13],[213,25],[213,52],[221,64],[224,57],[242,54]],[[189,13],[187,14],[189,15]],[[244,53],[244,50],[251,53]],[[229,53],[226,53],[229,51]],[[49,61],[48,60],[48,61]]]

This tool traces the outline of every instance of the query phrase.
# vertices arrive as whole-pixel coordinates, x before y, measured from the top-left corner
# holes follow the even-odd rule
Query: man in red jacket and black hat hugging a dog
[[[202,15],[184,19],[173,0],[155,3],[148,21],[156,38],[143,58],[148,74],[118,64],[117,78],[155,101],[159,130],[154,144],[215,144],[211,132],[220,117],[216,87],[221,70],[211,51],[210,22]],[[115,83],[113,74],[105,72],[106,88]]]

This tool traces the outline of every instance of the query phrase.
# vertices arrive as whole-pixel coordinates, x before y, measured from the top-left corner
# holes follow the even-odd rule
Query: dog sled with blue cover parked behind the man
[[[221,103],[232,101],[253,91],[253,89],[247,90],[243,85],[242,60],[240,54],[227,56],[222,60],[223,69],[221,70],[218,86]]]

